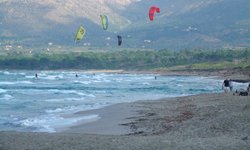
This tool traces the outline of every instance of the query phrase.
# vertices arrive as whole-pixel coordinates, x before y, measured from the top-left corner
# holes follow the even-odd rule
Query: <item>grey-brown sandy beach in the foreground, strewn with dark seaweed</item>
[[[78,112],[99,119],[57,133],[0,132],[0,150],[249,150],[250,96],[200,94]]]

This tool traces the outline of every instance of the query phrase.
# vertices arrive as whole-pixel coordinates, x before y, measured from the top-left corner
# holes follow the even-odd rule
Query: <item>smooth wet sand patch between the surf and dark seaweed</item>
[[[109,105],[100,109],[87,111],[79,111],[69,115],[70,117],[98,115],[97,118],[88,121],[79,121],[74,125],[70,125],[63,130],[62,133],[84,133],[97,135],[126,135],[133,133],[129,127],[121,126],[121,124],[129,123],[127,119],[131,116],[137,116],[137,107],[135,103],[118,103]]]

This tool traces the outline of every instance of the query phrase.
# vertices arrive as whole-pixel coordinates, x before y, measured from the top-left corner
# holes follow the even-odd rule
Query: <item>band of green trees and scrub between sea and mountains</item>
[[[65,54],[8,53],[0,55],[0,69],[228,69],[250,66],[250,49],[79,52]]]

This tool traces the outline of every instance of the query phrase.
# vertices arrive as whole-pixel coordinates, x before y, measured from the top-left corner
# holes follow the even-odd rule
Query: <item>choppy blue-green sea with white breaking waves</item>
[[[0,71],[0,131],[52,133],[56,128],[99,117],[62,117],[67,114],[117,103],[220,93],[224,92],[222,82],[200,76]],[[245,87],[247,84],[234,83],[234,89]]]

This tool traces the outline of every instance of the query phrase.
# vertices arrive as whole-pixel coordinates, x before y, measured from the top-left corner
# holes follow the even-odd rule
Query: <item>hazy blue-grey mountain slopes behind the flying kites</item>
[[[151,6],[161,12],[148,18]],[[0,0],[2,45],[75,45],[124,48],[234,49],[250,47],[249,0]],[[109,18],[107,31],[100,14]],[[110,37],[110,39],[106,39]]]

